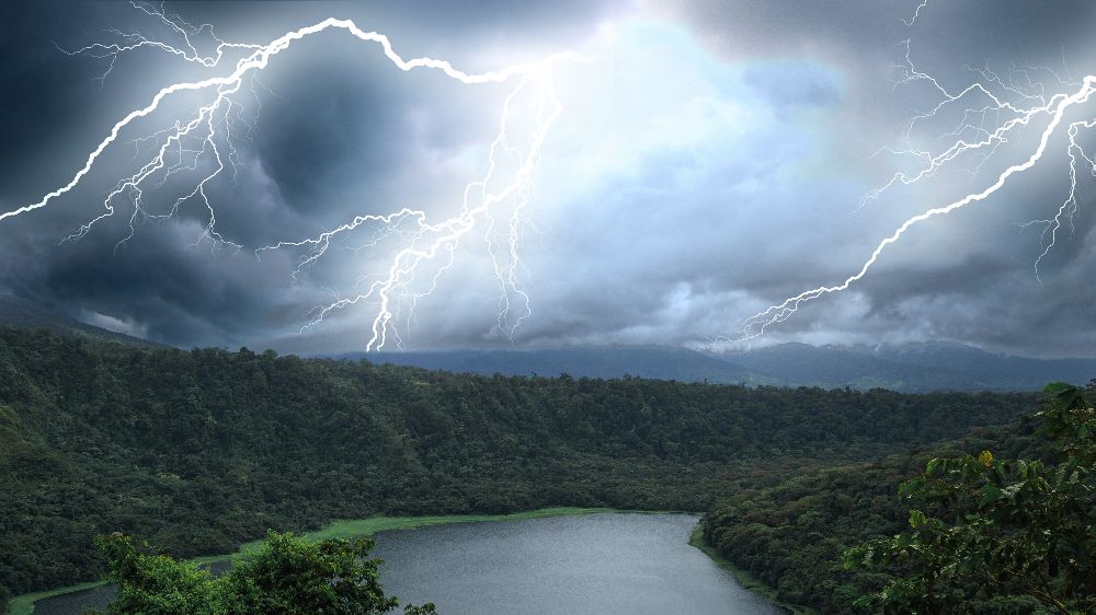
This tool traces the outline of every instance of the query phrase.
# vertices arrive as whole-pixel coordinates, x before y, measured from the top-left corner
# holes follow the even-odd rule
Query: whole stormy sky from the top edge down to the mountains
[[[164,96],[71,189],[0,220],[0,293],[181,347],[947,340],[1096,356],[1096,144],[1068,132],[1096,102],[1068,109],[1030,170],[912,227],[846,290],[744,328],[1027,160],[1050,114],[865,199],[1078,91],[1096,71],[1087,0],[5,2],[0,212],[67,186],[161,89],[222,78],[256,48],[213,61],[218,42],[328,18],[461,74],[527,68],[469,84],[400,70],[345,30],[309,34],[208,117],[215,89]],[[941,105],[972,84],[995,98]],[[195,118],[213,118],[209,141],[205,125],[170,139]],[[162,146],[162,167],[123,181]],[[1043,254],[1054,227],[1038,221],[1070,196],[1071,153],[1076,211]]]

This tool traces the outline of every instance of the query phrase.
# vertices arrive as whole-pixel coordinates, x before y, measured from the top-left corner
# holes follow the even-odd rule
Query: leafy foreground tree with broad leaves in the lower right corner
[[[934,459],[900,488],[926,504],[911,531],[846,552],[893,581],[860,601],[886,613],[973,613],[1025,603],[1096,612],[1096,411],[1076,387],[1048,385],[1040,433],[1058,463]],[[928,511],[928,512],[925,512]]]

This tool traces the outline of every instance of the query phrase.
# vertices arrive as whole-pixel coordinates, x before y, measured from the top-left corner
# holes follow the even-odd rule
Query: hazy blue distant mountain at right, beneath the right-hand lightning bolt
[[[792,386],[1036,391],[1051,381],[1085,384],[1096,378],[1096,359],[1032,359],[949,343],[875,347],[781,344],[724,358]]]

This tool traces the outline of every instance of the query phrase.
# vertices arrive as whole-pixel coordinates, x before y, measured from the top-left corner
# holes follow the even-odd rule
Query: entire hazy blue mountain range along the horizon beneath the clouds
[[[923,343],[891,346],[781,344],[712,356],[663,346],[592,346],[538,350],[447,350],[350,353],[349,359],[431,370],[504,375],[637,378],[710,382],[929,391],[1037,391],[1051,381],[1085,384],[1096,359],[1032,359],[971,346]]]

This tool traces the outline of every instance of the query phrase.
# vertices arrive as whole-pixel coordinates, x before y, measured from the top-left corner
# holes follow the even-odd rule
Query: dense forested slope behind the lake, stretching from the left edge
[[[1035,399],[454,375],[0,329],[0,592],[98,578],[109,532],[186,557],[377,513],[707,510],[747,495],[750,473],[806,495],[842,472],[811,468],[1005,425]]]

